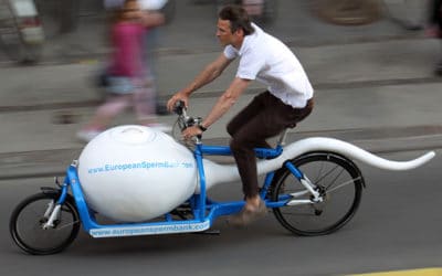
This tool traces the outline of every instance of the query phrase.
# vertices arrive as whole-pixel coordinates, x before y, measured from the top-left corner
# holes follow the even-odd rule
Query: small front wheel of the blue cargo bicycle
[[[56,193],[36,193],[24,199],[12,212],[9,230],[14,243],[32,255],[50,255],[66,248],[77,236],[80,216],[73,199],[69,197],[62,205],[55,227],[43,230],[48,220],[43,217],[48,203],[56,202]],[[31,208],[39,210],[31,210]]]

